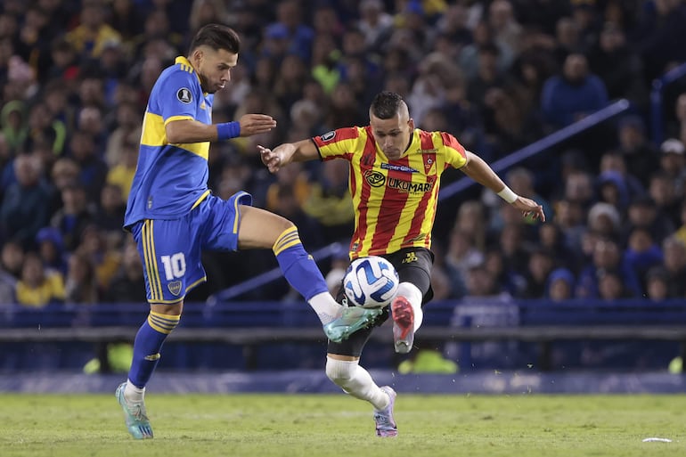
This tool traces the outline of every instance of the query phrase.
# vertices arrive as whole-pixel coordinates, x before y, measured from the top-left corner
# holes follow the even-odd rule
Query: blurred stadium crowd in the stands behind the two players
[[[545,224],[488,192],[441,203],[436,298],[686,298],[686,81],[664,94],[667,140],[648,129],[651,81],[686,62],[682,0],[4,0],[0,303],[145,300],[121,228],[143,111],[160,70],[208,22],[242,39],[214,121],[278,121],[214,143],[210,188],[251,192],[298,225],[307,249],[352,233],[347,164],[272,176],[257,144],[366,125],[372,96],[388,89],[417,126],[492,162],[625,98],[628,113],[504,174],[544,202]],[[208,283],[188,301],[275,266],[254,251],[203,263]],[[341,266],[329,266],[333,283]],[[290,291],[282,282],[249,295]]]

